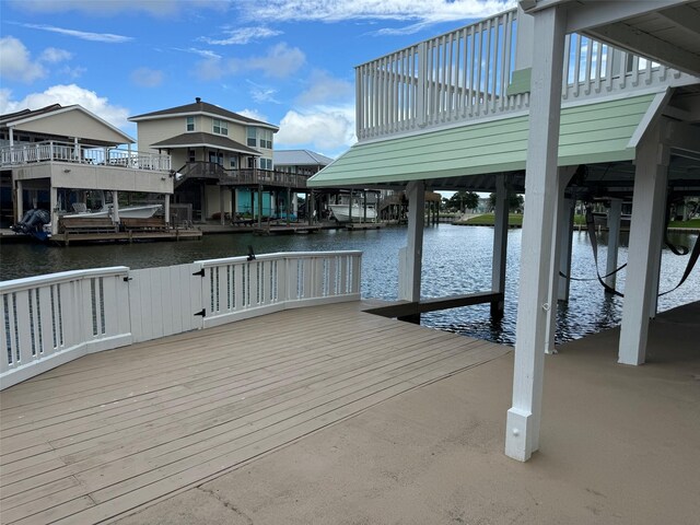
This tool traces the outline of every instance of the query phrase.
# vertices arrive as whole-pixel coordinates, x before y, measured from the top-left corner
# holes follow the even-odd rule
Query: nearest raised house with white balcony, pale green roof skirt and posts
[[[700,1],[522,0],[355,70],[359,141],[308,184],[406,187],[400,299],[420,306],[425,189],[497,192],[495,293],[508,194],[525,192],[511,457],[539,448],[542,354],[568,296],[559,270],[570,273],[575,199],[616,202],[609,269],[620,202],[632,198],[619,362],[645,361],[667,198],[700,195],[699,22]]]

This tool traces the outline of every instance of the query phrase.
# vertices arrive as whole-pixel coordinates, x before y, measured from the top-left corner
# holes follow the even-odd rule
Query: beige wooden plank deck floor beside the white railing
[[[182,334],[8,388],[0,522],[124,515],[510,350],[361,312],[369,306]]]

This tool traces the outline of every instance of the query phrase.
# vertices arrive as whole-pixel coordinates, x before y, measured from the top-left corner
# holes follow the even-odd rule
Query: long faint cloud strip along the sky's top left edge
[[[18,10],[34,13],[81,12],[93,16],[113,16],[115,14],[141,13],[155,18],[167,18],[186,10],[200,11],[211,9],[225,11],[229,2],[222,0],[10,0],[9,4]]]

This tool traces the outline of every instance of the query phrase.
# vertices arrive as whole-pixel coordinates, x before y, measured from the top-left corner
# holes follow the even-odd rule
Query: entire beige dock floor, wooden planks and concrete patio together
[[[377,305],[179,334],[5,389],[0,521],[697,517],[700,303],[658,316],[644,366],[616,364],[618,330],[548,355],[527,465],[503,455],[511,349],[363,312]]]

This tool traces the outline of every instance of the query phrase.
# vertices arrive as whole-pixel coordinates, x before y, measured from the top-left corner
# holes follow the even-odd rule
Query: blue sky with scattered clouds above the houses
[[[196,96],[280,127],[276,149],[354,142],[354,67],[514,0],[0,0],[0,113],[127,117]]]

